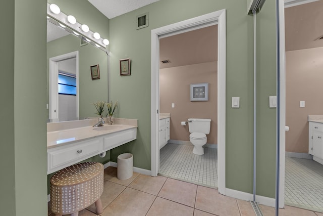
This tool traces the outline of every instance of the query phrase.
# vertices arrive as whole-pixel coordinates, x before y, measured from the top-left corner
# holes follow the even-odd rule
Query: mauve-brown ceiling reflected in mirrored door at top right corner
[[[285,8],[286,51],[323,47],[323,0]]]

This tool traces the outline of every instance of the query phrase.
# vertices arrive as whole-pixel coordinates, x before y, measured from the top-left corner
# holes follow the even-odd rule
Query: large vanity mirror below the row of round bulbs
[[[48,122],[96,117],[93,103],[108,100],[107,58],[102,50],[82,44],[79,37],[47,20]],[[97,64],[100,79],[92,80],[90,66]],[[61,85],[73,84],[59,84],[59,76],[75,77],[76,94],[60,92]]]

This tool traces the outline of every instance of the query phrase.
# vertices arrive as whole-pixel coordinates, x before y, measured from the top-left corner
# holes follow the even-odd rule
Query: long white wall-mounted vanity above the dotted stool
[[[136,119],[113,118],[93,127],[95,119],[47,123],[47,174],[105,153],[137,138]]]

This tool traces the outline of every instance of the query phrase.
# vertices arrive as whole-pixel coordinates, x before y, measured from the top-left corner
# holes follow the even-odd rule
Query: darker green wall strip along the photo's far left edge
[[[15,1],[0,4],[0,23],[6,34],[0,34],[0,209],[4,215],[15,215],[15,112],[14,112],[14,47]],[[5,174],[5,175],[4,175]]]

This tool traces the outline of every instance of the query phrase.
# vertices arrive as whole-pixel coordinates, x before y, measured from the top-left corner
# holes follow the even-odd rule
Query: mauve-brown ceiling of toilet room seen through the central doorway
[[[159,39],[159,60],[159,68],[217,61],[218,25]]]

